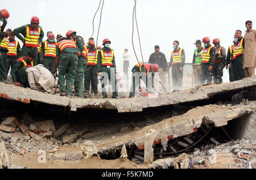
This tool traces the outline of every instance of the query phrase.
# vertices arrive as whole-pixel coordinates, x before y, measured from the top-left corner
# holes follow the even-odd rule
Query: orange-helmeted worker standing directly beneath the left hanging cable
[[[98,56],[100,51],[95,48],[95,42],[93,40],[89,40],[88,47],[89,49],[86,51],[87,68],[84,77],[84,91],[85,93],[89,93],[91,83],[92,93],[98,95],[98,71],[100,70]]]

